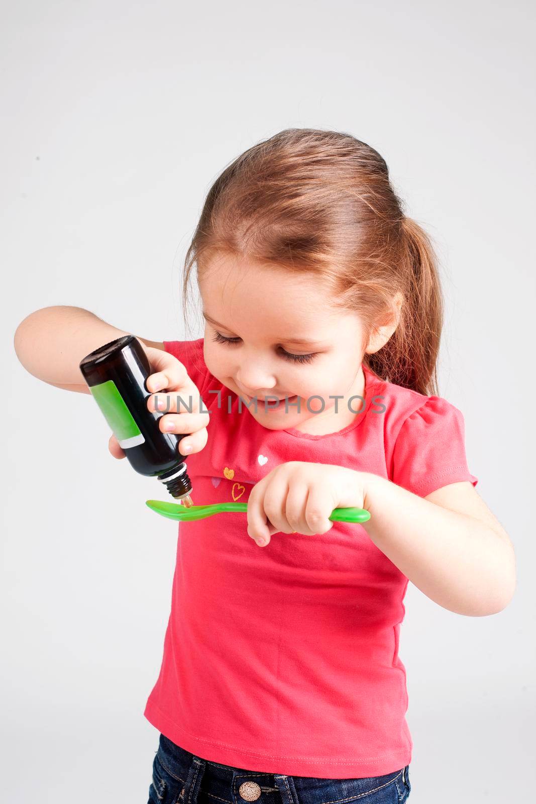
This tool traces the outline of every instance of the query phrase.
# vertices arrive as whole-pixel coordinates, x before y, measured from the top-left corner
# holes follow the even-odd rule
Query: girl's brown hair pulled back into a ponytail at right
[[[285,129],[231,162],[207,194],[186,253],[185,320],[191,269],[199,276],[219,252],[316,275],[334,306],[358,313],[367,340],[401,292],[395,332],[363,362],[381,379],[437,394],[444,301],[436,256],[427,233],[403,214],[385,160],[365,142]]]

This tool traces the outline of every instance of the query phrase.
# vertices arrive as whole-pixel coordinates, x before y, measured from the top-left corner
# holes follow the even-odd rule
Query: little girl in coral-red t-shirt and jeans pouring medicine
[[[373,148],[288,129],[211,187],[185,311],[194,265],[204,338],[139,338],[147,404],[165,406],[163,431],[186,434],[194,503],[248,512],[179,526],[145,708],[161,732],[149,802],[400,804],[408,579],[474,617],[504,609],[515,587],[512,544],[468,470],[463,416],[436,396],[432,245]],[[122,334],[88,311],[44,308],[15,348],[41,379],[88,392],[80,359]],[[109,448],[124,457],[114,436]],[[333,522],[336,507],[370,520]]]

